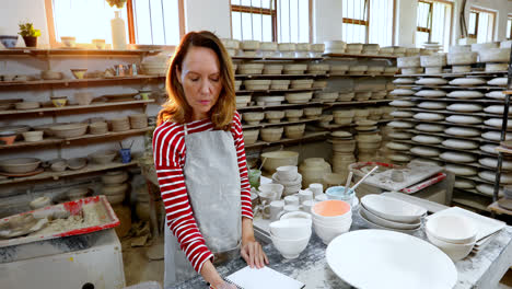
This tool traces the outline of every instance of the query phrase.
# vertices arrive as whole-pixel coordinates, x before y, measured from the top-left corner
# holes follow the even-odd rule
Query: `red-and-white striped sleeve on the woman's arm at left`
[[[153,157],[156,176],[165,207],[166,223],[182,251],[197,273],[213,257],[198,229],[189,204],[183,160],[185,140],[183,126],[163,123],[153,132]]]

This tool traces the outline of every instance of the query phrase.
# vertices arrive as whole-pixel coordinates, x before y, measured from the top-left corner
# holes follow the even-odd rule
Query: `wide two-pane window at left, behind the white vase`
[[[61,36],[74,36],[77,43],[94,38],[112,42],[110,20],[117,8],[105,0],[45,0],[50,42],[57,46]],[[127,42],[176,45],[183,34],[179,3],[183,0],[128,0],[120,10]],[[94,16],[91,16],[94,15]],[[54,28],[54,30],[51,30]]]

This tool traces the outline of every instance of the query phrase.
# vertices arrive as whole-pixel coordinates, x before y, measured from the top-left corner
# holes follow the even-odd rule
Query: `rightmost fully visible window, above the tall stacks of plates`
[[[472,7],[469,10],[469,25],[467,26],[468,36],[476,38],[477,43],[492,42],[494,38],[494,19],[496,12]]]

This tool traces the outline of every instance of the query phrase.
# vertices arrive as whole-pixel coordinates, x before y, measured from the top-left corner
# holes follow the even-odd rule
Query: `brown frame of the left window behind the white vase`
[[[179,38],[185,35],[185,3],[184,0],[177,0],[178,2],[178,22],[179,22]],[[46,23],[48,27],[48,37],[51,48],[57,48],[61,46],[61,43],[56,39],[55,34],[55,19],[54,19],[54,3],[53,0],[45,0],[45,10],[46,10]],[[127,13],[127,28],[128,28],[128,43],[136,44],[135,36],[135,20],[133,20],[133,2],[132,0],[126,1],[126,13]],[[177,44],[176,44],[177,45]],[[174,47],[174,45],[161,45]]]

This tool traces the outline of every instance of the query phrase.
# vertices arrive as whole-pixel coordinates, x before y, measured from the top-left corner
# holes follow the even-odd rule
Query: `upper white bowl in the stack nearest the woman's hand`
[[[284,240],[301,240],[311,235],[311,219],[283,219],[269,224],[270,233]]]

